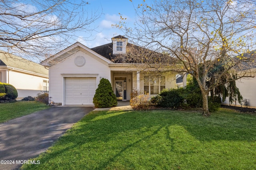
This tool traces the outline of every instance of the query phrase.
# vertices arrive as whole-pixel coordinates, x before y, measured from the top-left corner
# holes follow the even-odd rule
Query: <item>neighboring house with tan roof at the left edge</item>
[[[48,68],[21,57],[0,51],[0,82],[14,86],[17,100],[48,92]]]

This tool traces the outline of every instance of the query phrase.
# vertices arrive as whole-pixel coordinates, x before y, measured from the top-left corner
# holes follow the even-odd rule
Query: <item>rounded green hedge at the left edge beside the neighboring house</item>
[[[4,88],[3,88],[4,86]],[[14,86],[0,82],[0,93],[6,93],[1,100],[14,100],[18,97],[18,92]]]

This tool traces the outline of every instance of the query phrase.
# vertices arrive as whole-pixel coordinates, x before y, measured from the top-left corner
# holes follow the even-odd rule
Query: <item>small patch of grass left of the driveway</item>
[[[50,106],[39,102],[17,101],[14,103],[0,103],[0,123],[47,109]]]

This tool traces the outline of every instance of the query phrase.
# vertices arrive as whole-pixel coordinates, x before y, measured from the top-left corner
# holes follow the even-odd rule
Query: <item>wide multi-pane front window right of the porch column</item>
[[[150,77],[144,76],[144,93],[158,94],[165,88],[165,76]]]

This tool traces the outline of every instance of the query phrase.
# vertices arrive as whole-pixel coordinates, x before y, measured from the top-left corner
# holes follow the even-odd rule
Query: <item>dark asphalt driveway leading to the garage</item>
[[[24,160],[46,151],[58,137],[93,109],[52,107],[1,123],[0,161],[5,162],[1,161],[0,170],[16,170]],[[17,164],[19,162],[21,164]]]

